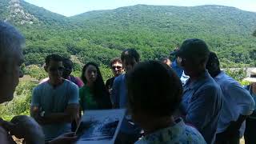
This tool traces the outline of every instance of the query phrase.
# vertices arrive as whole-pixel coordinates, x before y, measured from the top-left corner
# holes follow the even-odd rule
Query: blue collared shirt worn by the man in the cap
[[[197,80],[189,79],[184,86],[181,112],[208,144],[215,140],[222,97],[222,90],[207,70]]]

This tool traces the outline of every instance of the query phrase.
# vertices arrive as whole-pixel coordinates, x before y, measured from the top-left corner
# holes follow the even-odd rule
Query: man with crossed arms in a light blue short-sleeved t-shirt
[[[71,122],[78,114],[78,86],[62,78],[62,57],[46,57],[49,80],[34,88],[31,116],[42,126],[46,141],[71,131]]]

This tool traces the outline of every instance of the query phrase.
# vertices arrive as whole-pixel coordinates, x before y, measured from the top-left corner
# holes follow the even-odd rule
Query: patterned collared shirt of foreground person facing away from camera
[[[191,126],[186,126],[182,118],[176,120],[174,126],[166,127],[158,130],[153,134],[146,135],[142,139],[135,142],[135,144],[173,144],[173,143],[187,143],[187,144],[206,144],[202,135],[198,130]]]

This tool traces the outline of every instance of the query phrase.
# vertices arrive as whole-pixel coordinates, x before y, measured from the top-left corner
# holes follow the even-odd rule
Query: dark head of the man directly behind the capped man
[[[209,58],[206,63],[206,69],[208,70],[208,72],[212,77],[215,77],[221,71],[217,54],[215,54],[214,52],[210,52],[209,54]]]

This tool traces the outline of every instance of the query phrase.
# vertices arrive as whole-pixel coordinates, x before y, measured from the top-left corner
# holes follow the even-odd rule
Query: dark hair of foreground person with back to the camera
[[[182,100],[182,82],[169,66],[157,61],[139,63],[126,74],[131,112],[170,116]]]

